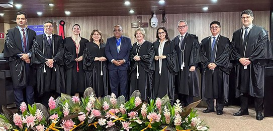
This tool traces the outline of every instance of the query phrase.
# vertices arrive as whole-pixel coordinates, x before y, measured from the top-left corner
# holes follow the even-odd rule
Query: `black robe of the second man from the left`
[[[40,34],[33,41],[31,63],[36,66],[38,95],[55,90],[58,93],[65,92],[65,80],[63,72],[63,39],[53,34],[51,45],[46,35]],[[53,67],[45,64],[45,58],[54,58]]]

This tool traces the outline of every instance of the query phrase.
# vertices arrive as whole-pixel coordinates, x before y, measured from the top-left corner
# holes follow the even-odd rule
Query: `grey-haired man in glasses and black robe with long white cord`
[[[177,24],[179,34],[172,39],[178,55],[179,70],[175,76],[175,90],[178,98],[187,106],[193,102],[193,97],[199,96],[199,77],[196,70],[201,61],[198,36],[187,32],[186,20],[179,20]]]

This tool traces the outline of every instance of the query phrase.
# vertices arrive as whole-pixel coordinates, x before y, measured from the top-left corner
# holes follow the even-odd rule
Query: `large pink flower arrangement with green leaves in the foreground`
[[[22,114],[3,106],[0,130],[208,130],[193,110],[200,101],[182,107],[170,104],[168,96],[143,102],[136,90],[129,101],[114,93],[96,97],[87,88],[84,97],[62,94],[49,98],[49,110],[42,104],[21,103]]]

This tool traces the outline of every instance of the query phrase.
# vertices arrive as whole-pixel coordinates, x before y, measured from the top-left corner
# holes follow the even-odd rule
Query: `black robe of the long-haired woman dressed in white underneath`
[[[154,55],[158,56],[159,41],[153,42]],[[162,59],[161,74],[159,74],[159,60],[155,60],[155,72],[153,74],[153,97],[163,97],[166,94],[174,100],[174,76],[179,70],[175,44],[168,40],[165,42]]]

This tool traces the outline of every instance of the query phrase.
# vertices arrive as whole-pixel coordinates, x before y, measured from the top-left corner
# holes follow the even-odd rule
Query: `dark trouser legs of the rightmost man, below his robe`
[[[240,96],[240,103],[241,103],[240,110],[243,110],[243,111],[248,110],[248,97],[250,97],[250,95],[245,93]],[[262,112],[263,98],[254,97],[254,105],[255,105],[256,112]]]

